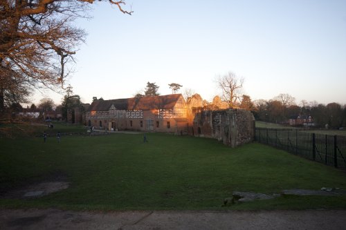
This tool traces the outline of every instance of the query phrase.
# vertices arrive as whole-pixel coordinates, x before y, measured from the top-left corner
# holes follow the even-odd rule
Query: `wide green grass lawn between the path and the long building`
[[[55,128],[54,128],[55,129]],[[221,207],[233,191],[346,190],[346,172],[258,143],[229,148],[217,140],[163,133],[0,139],[0,207],[61,209],[346,209],[338,197],[288,195]],[[60,175],[69,189],[42,198],[1,193]]]

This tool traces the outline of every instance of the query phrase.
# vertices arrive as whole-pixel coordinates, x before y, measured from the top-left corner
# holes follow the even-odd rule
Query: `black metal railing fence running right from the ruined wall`
[[[346,136],[308,133],[298,129],[256,128],[255,140],[346,170]]]

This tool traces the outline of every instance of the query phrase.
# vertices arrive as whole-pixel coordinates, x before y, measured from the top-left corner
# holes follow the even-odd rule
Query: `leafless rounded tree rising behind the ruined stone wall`
[[[222,90],[222,99],[230,107],[235,106],[242,97],[244,78],[239,78],[235,73],[229,72],[228,75],[217,77],[216,82],[217,86]]]

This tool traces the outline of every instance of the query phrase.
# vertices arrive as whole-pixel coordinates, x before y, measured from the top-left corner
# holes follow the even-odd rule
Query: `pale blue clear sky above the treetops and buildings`
[[[127,0],[123,15],[97,2],[92,19],[76,25],[88,36],[75,55],[68,84],[82,102],[183,85],[212,101],[221,95],[216,77],[244,78],[252,100],[280,93],[322,104],[346,104],[346,1],[319,0]],[[36,93],[33,103],[63,95]]]

